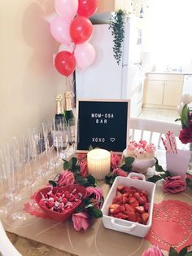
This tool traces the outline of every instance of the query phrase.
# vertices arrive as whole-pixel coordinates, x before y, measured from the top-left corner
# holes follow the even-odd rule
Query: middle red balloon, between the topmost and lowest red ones
[[[89,19],[77,16],[70,25],[70,35],[75,44],[83,43],[89,39],[93,26]]]

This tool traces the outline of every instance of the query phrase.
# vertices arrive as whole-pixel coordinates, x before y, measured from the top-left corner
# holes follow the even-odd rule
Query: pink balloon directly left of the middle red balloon
[[[50,33],[56,41],[70,45],[71,36],[69,33],[70,21],[63,17],[57,16],[50,22]]]

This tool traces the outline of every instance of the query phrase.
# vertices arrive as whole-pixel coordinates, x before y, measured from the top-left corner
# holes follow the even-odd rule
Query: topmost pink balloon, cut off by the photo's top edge
[[[64,18],[72,20],[78,9],[78,0],[55,0],[55,10]]]

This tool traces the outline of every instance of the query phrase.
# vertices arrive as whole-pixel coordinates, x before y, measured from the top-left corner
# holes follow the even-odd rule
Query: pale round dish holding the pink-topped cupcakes
[[[129,157],[127,155],[127,149],[123,151],[124,157]],[[155,158],[144,158],[144,159],[137,159],[135,157],[135,161],[133,161],[133,170],[140,172],[141,174],[145,174],[148,168],[155,166]]]

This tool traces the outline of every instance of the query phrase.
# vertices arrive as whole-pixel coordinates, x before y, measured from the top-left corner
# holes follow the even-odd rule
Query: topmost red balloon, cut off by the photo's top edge
[[[79,0],[78,15],[89,17],[98,9],[98,0]]]

